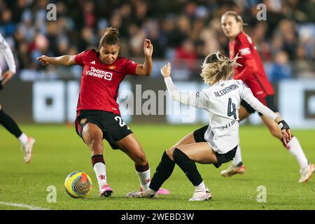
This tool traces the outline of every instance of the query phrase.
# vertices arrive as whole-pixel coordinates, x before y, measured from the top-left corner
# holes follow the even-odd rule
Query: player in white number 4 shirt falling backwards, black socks
[[[220,52],[207,56],[200,75],[204,79],[204,83],[210,87],[193,94],[176,90],[170,77],[171,65],[168,63],[162,67],[161,73],[172,99],[208,111],[209,127],[194,132],[195,143],[174,146],[165,151],[148,190],[131,192],[127,194],[127,197],[153,197],[160,186],[171,176],[174,166],[177,164],[195,186],[195,192],[190,201],[210,200],[211,193],[204,185],[195,162],[213,164],[218,168],[222,163],[229,162],[235,157],[239,146],[238,110],[242,99],[256,111],[278,123],[283,134],[283,141],[290,141],[290,128],[286,122],[260,103],[241,80],[230,80],[233,66],[238,65],[236,62],[238,58],[230,60]]]

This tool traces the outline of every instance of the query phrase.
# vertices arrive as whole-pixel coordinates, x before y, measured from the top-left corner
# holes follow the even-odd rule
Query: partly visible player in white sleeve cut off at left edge
[[[0,53],[4,56],[6,59],[6,62],[8,63],[8,71],[4,72],[2,74],[2,69],[0,67],[0,90],[3,89],[3,85],[5,85],[10,78],[13,77],[15,74],[16,66],[15,61],[13,57],[13,53],[10,49],[10,46],[6,42],[6,40],[3,38],[3,36],[0,34]],[[35,143],[35,139],[32,137],[27,137],[25,133],[23,133],[20,130],[20,127],[18,127],[18,124],[15,123],[15,121],[6,114],[2,106],[0,104],[0,124],[3,125],[3,127],[6,128],[11,134],[13,134],[15,137],[17,137],[21,144],[23,151],[25,153],[24,161],[26,163],[29,163],[31,161],[31,155],[33,151],[33,145]]]

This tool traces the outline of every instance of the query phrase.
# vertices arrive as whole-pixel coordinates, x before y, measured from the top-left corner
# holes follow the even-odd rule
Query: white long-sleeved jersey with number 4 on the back
[[[260,103],[241,80],[221,80],[202,92],[187,94],[176,90],[172,78],[165,78],[172,99],[208,111],[209,127],[204,139],[219,154],[239,145],[239,107],[244,99],[253,109],[272,120],[276,114]]]

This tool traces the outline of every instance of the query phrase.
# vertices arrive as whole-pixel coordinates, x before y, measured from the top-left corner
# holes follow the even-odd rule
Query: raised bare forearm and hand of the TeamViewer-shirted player
[[[149,39],[144,40],[144,64],[138,64],[136,68],[137,76],[150,76],[153,69],[153,45]]]

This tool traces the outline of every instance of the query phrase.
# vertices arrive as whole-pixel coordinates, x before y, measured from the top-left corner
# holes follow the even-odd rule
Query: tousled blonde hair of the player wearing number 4
[[[241,57],[236,57],[230,60],[228,57],[225,57],[221,54],[220,51],[215,54],[208,55],[204,59],[204,64],[202,64],[202,76],[204,83],[208,85],[214,85],[220,80],[228,80],[233,73],[234,66],[241,66],[237,63],[237,59]]]

